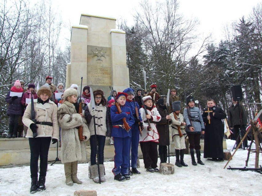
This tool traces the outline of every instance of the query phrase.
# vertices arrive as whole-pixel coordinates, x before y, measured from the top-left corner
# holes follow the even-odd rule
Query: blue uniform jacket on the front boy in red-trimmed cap
[[[126,122],[128,123],[129,127],[132,127],[134,124],[134,120],[132,117],[132,111],[127,106],[120,106],[122,113],[118,113],[116,106],[111,106],[110,114],[111,114],[111,122],[112,122],[112,137],[131,137],[131,131],[126,132],[125,129],[122,127],[114,127],[114,125],[123,125],[123,118],[126,118]],[[131,114],[131,115],[130,115]]]

